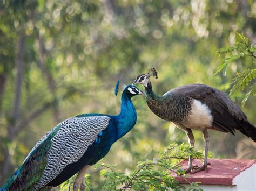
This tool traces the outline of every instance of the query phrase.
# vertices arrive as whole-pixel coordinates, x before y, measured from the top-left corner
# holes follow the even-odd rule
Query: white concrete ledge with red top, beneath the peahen
[[[172,174],[172,176],[183,184],[201,182],[201,185],[204,185],[204,189],[207,188],[207,185],[237,185],[232,190],[256,190],[256,160],[208,159],[208,162],[211,165],[208,165],[207,172],[188,173],[184,176]],[[186,168],[187,164],[188,160],[180,163],[182,168]],[[200,166],[201,162],[195,159],[193,160],[193,165]],[[244,185],[245,183],[246,185]],[[237,189],[238,187],[243,189]]]

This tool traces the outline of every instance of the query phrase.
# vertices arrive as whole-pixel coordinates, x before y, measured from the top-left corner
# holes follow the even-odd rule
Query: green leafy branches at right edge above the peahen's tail
[[[244,36],[244,34],[240,34],[238,32],[235,33],[240,40],[231,47],[224,47],[219,49],[218,53],[224,55],[224,59],[217,67],[217,72],[215,74],[223,71],[223,74],[225,76],[227,73],[227,68],[231,65],[231,63],[235,62],[238,59],[244,59],[246,56],[251,56],[252,58],[256,59],[256,45],[252,45],[248,38]],[[252,62],[255,66],[255,60],[253,60]],[[255,74],[255,68],[246,68],[241,72],[237,72],[236,76],[232,80],[232,88],[230,90],[231,96],[238,96],[239,93],[244,91],[247,86],[250,86],[247,90],[244,100],[242,100],[243,106],[246,103],[248,97],[250,97],[251,95],[256,95]]]

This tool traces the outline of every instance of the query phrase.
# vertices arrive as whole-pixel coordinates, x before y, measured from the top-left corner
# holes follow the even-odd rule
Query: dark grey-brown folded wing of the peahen
[[[164,96],[188,96],[199,100],[210,108],[213,115],[213,128],[223,132],[238,129],[242,132],[240,121],[246,121],[246,116],[222,91],[205,84],[190,84],[174,88]]]

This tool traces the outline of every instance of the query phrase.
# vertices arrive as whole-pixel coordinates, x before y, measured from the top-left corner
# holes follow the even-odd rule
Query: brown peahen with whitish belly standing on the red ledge
[[[207,129],[230,132],[233,135],[235,130],[238,130],[256,142],[255,126],[248,122],[244,112],[222,91],[205,84],[189,84],[171,89],[163,96],[157,96],[152,90],[150,76],[158,78],[154,68],[151,68],[147,74],[138,75],[133,84],[143,84],[146,102],[151,111],[184,130],[191,146],[194,146],[192,130],[203,132],[205,140],[203,165],[193,166],[190,156],[186,173],[207,170],[210,142]]]

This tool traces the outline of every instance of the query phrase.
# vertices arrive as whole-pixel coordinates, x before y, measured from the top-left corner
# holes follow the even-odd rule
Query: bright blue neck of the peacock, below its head
[[[132,104],[131,97],[127,96],[126,93],[123,93],[121,98],[121,111],[120,114],[116,116],[118,127],[117,139],[129,132],[135,125],[136,120],[137,112]]]

